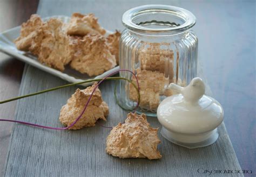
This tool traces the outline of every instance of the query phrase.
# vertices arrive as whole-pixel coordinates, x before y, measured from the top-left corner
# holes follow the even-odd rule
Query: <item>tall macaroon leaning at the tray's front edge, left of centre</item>
[[[41,63],[60,71],[65,69],[73,54],[70,39],[62,27],[61,20],[51,18],[36,31],[29,48]]]

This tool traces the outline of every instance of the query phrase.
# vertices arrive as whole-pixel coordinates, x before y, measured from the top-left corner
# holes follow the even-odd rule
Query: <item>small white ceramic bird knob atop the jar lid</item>
[[[169,88],[182,94],[185,101],[196,102],[205,94],[205,84],[200,77],[192,79],[186,87],[180,87],[177,84],[170,83]]]

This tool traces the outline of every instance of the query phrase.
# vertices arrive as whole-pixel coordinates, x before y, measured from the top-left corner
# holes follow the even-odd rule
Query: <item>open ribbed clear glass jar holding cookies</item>
[[[171,82],[186,86],[197,75],[198,39],[191,27],[196,17],[185,9],[169,5],[143,5],[123,15],[126,29],[120,38],[120,69],[138,77],[138,112],[156,116],[159,103],[175,93]],[[135,78],[128,72],[120,76]],[[119,103],[125,109],[136,105],[138,94],[129,82],[119,85]]]

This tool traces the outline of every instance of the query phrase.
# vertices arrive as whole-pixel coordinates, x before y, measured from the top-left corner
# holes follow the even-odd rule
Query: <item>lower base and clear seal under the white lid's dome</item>
[[[161,134],[164,138],[172,143],[187,148],[197,148],[211,145],[219,137],[217,128],[207,133],[191,135],[171,132],[163,127],[161,129]]]

